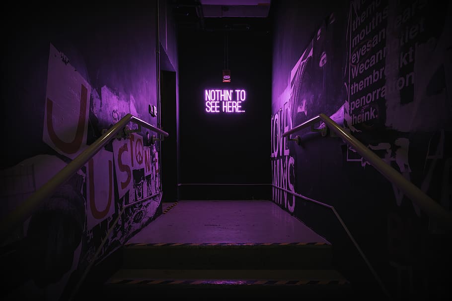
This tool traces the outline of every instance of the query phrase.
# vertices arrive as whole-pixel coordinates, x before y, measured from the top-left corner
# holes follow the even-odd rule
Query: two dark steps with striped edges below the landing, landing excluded
[[[103,284],[91,277],[78,299],[350,296],[350,284],[331,266],[331,251],[324,243],[128,244],[116,255],[120,269]]]

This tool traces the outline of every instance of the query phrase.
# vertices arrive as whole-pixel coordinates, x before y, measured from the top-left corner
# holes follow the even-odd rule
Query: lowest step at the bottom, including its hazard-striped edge
[[[350,284],[335,270],[166,270],[120,269],[98,291],[103,298],[351,296]],[[93,296],[91,294],[91,296]]]

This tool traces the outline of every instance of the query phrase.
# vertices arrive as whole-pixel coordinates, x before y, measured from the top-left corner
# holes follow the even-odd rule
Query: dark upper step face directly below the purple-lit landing
[[[125,269],[330,269],[331,245],[294,243],[136,243],[122,249]]]

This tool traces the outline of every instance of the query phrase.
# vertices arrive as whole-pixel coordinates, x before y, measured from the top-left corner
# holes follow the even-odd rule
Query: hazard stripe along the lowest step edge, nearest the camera
[[[346,280],[235,280],[235,279],[215,279],[215,280],[158,280],[158,279],[111,279],[107,284],[117,285],[346,285]]]

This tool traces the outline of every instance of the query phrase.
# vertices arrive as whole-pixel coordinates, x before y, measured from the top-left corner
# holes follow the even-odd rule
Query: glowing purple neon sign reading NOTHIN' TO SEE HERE
[[[244,113],[242,102],[246,100],[246,92],[243,89],[204,90],[204,101],[207,113]]]

